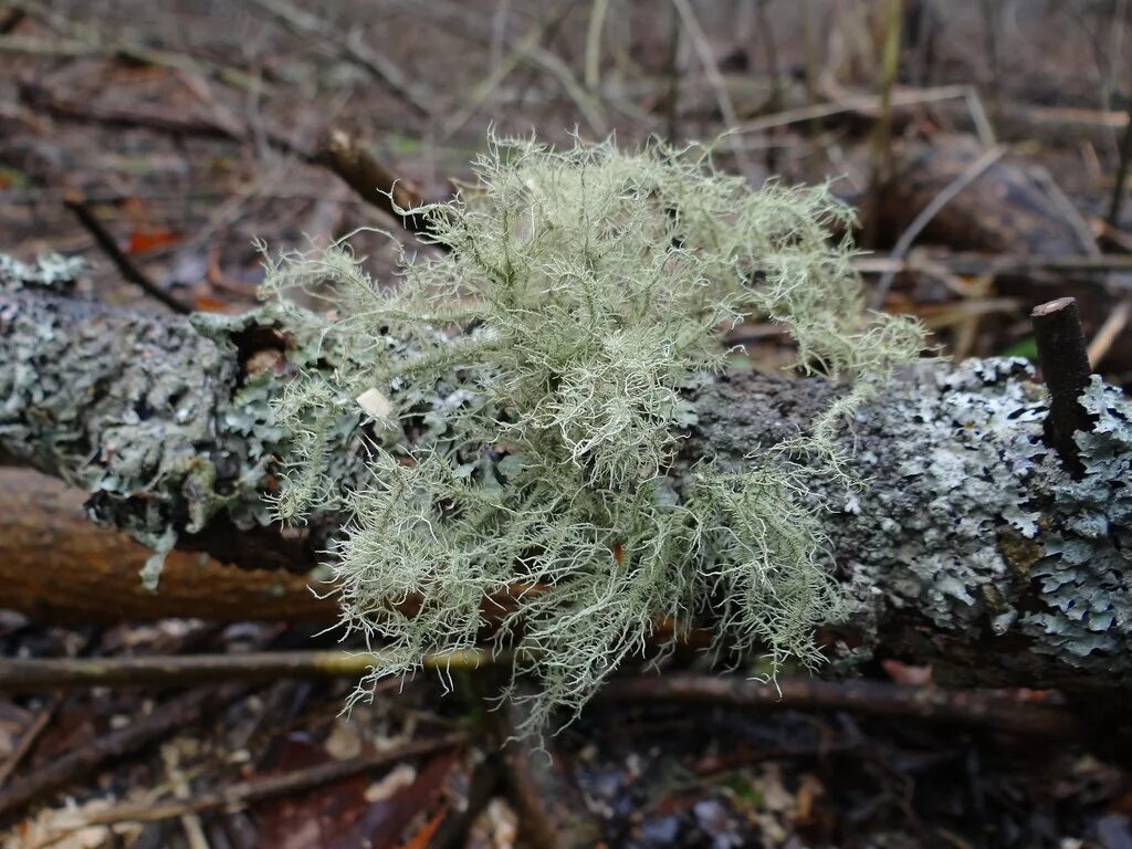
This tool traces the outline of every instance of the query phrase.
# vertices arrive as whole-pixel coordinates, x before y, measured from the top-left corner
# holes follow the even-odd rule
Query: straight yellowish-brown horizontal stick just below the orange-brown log
[[[486,650],[426,655],[427,669],[475,669],[501,662]],[[357,677],[387,663],[379,652],[342,651],[172,654],[140,658],[17,658],[0,660],[0,693],[51,688],[146,685],[175,687],[203,681]]]

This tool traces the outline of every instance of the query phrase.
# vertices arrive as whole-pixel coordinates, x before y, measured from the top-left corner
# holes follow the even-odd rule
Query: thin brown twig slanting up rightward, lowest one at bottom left
[[[181,799],[151,803],[126,803],[104,811],[82,815],[77,827],[88,825],[113,825],[122,822],[152,823],[178,816],[203,814],[217,808],[235,809],[256,801],[290,796],[305,790],[341,781],[360,772],[376,770],[410,757],[428,755],[444,748],[460,746],[468,741],[468,735],[451,734],[424,740],[412,740],[384,752],[374,752],[344,761],[327,761],[314,766],[292,770],[277,775],[240,781]]]

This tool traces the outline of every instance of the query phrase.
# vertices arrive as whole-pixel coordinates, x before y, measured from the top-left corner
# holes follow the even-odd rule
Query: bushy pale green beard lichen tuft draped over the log
[[[388,659],[354,697],[473,648],[489,621],[541,685],[528,731],[693,623],[731,657],[816,663],[812,634],[839,601],[805,481],[844,475],[838,422],[923,345],[915,321],[865,312],[848,237],[831,235],[851,211],[824,187],[752,191],[697,148],[492,142],[475,173],[463,197],[413,211],[448,250],[404,256],[396,281],[343,245],[268,264],[269,294],[331,307],[290,302],[340,366],[277,406],[297,435],[277,506],[349,516],[333,552],[343,621]],[[801,370],[851,388],[741,469],[683,462],[691,391],[748,316],[789,332]],[[372,478],[348,487],[321,452],[359,406]]]

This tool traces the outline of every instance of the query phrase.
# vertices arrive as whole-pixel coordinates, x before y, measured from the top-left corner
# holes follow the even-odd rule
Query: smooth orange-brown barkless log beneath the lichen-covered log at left
[[[54,478],[0,469],[0,607],[53,624],[337,618],[334,600],[317,598],[301,575],[232,569],[199,554],[170,552],[157,592],[148,592],[138,572],[153,552],[95,525],[83,500]]]

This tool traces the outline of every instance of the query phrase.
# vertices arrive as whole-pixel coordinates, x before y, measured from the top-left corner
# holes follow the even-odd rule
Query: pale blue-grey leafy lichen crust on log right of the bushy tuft
[[[900,403],[857,414],[855,465],[873,481],[830,515],[852,624],[871,643],[885,619],[926,620],[1000,680],[1005,666],[1037,683],[1029,644],[1132,681],[1132,405],[1094,379],[1082,402],[1098,421],[1077,437],[1074,481],[1041,441],[1044,392],[1017,379],[1029,377],[1023,360],[924,368]],[[955,667],[977,680],[978,660]]]

